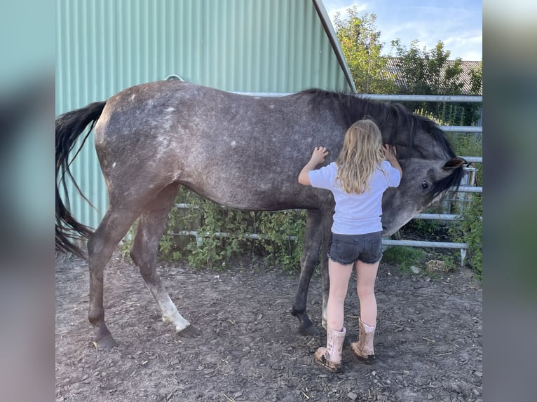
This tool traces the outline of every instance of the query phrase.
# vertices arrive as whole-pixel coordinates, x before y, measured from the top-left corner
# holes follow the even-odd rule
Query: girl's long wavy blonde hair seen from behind
[[[373,120],[358,120],[348,128],[336,160],[337,185],[349,194],[365,193],[369,179],[383,160],[381,130]]]

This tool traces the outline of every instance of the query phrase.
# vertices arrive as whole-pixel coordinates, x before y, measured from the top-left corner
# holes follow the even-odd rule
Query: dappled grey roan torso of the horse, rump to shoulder
[[[332,132],[307,97],[158,81],[109,99],[95,146],[105,179],[116,186],[137,174],[148,183],[178,181],[231,207],[282,209],[315,204],[297,176],[314,146],[334,142]]]

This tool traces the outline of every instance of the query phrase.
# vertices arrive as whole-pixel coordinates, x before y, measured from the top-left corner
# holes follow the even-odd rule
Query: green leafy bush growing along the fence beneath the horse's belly
[[[184,258],[193,268],[222,270],[230,258],[250,255],[283,270],[299,270],[305,211],[243,212],[217,205],[186,188],[179,190],[176,202],[188,208],[175,205],[170,211],[159,258]],[[124,256],[131,243],[125,242]]]

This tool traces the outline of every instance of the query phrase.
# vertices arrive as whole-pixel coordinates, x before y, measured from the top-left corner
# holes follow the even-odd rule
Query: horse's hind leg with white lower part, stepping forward
[[[175,183],[170,184],[144,209],[138,220],[130,256],[140,267],[140,273],[161,310],[163,321],[171,323],[179,335],[193,337],[198,335],[198,330],[179,314],[156,271],[158,242],[161,240],[168,214],[177,195],[177,187]]]

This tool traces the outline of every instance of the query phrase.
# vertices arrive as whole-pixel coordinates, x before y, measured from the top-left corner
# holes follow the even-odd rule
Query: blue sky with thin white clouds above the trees
[[[341,19],[346,10],[357,6],[358,15],[376,15],[376,29],[381,32],[383,53],[390,53],[390,43],[400,39],[407,49],[418,40],[418,47],[433,49],[438,41],[444,42],[450,60],[460,57],[465,61],[483,58],[482,0],[322,0],[334,25],[334,15]]]

